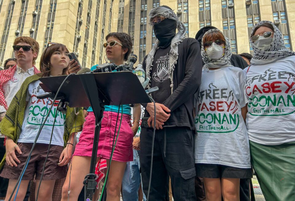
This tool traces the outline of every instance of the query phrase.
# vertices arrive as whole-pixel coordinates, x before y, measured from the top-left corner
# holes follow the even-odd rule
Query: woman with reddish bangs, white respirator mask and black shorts
[[[206,200],[239,200],[240,179],[252,177],[245,118],[246,75],[230,64],[229,39],[218,29],[202,39],[205,65],[195,96],[195,163]]]

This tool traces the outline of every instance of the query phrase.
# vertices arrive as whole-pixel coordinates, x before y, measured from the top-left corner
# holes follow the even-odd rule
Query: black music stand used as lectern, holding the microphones
[[[39,80],[43,83],[41,87],[45,92],[55,94],[65,78],[66,75]],[[61,87],[58,96],[63,96],[62,101],[69,102],[69,107],[91,106],[96,118],[90,171],[84,181],[86,200],[92,200],[96,186],[95,166],[104,105],[150,103],[151,101],[137,76],[130,71],[71,75]]]

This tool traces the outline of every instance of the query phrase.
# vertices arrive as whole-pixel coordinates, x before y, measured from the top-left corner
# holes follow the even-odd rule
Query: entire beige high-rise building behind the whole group
[[[252,53],[250,32],[260,20],[275,22],[287,48],[295,48],[294,0],[0,0],[0,66],[14,57],[12,45],[19,36],[40,44],[39,58],[48,42],[65,44],[83,67],[104,63],[105,36],[129,33],[138,62],[151,50],[155,34],[148,12],[170,6],[187,27],[187,36],[211,25],[230,39],[232,51]]]

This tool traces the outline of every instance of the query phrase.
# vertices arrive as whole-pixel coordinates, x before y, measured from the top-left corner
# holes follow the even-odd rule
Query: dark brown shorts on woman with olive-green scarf
[[[15,151],[15,154],[21,163],[18,164],[18,167],[11,167],[6,162],[0,176],[7,179],[18,179],[19,175],[22,172],[22,168],[26,163],[26,159],[29,156],[32,146],[33,143],[18,143],[18,147],[21,149],[22,154],[19,154],[17,151]],[[22,177],[22,180],[32,180],[34,179],[35,174],[37,180],[41,179],[48,146],[48,144],[36,144],[29,160],[27,169],[24,173],[24,176]],[[61,156],[61,152],[63,149],[63,147],[58,145],[50,146],[50,151],[46,161],[42,180],[55,180],[66,177],[67,166],[57,166],[57,163],[59,162],[59,157]]]

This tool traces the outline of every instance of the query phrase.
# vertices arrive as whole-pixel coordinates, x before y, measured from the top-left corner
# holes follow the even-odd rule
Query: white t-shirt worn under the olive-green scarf
[[[28,105],[25,111],[25,118],[22,124],[22,132],[19,136],[18,142],[21,143],[33,143],[39,128],[42,124],[42,119],[48,114],[49,108],[53,104],[53,100],[50,98],[37,99],[37,95],[45,94],[44,90],[39,86],[40,81],[37,80],[29,85],[27,90]],[[47,101],[48,105],[47,105]],[[52,132],[52,126],[54,121],[55,112],[59,101],[56,101],[53,105],[50,115],[46,120],[46,123],[41,131],[41,134],[37,140],[37,143],[49,144],[50,135]],[[46,107],[47,105],[47,107]],[[44,120],[43,119],[43,120]],[[57,112],[57,118],[55,120],[53,137],[51,144],[64,146],[64,126],[65,126],[65,114],[60,111]]]

